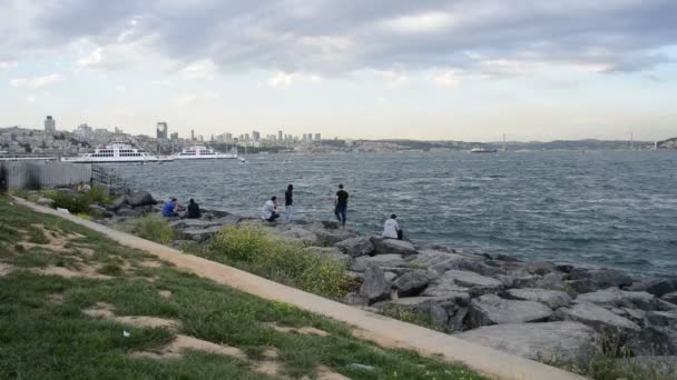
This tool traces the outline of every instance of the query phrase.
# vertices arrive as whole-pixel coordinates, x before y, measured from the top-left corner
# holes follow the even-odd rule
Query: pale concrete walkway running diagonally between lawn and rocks
[[[385,347],[402,348],[425,356],[435,356],[452,363],[464,363],[488,377],[510,380],[571,380],[583,379],[521,357],[512,356],[491,348],[467,342],[452,336],[429,330],[414,324],[367,312],[336,301],[311,294],[266,280],[252,273],[209,261],[176,249],[165,247],[138,237],[112,230],[105,226],[37,206],[23,199],[14,201],[35,211],[50,213],[75,223],[101,232],[110,239],[155,254],[178,268],[203,278],[238,289],[267,300],[285,302],[314,313],[344,322],[356,330],[356,336]]]

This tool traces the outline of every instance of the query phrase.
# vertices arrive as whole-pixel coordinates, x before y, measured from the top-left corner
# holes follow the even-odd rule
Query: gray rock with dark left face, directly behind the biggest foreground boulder
[[[552,310],[534,301],[504,300],[496,294],[473,299],[469,309],[469,327],[544,321]]]

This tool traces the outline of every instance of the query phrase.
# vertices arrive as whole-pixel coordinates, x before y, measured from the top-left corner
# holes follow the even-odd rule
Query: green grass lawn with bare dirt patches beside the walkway
[[[0,214],[2,379],[481,379],[3,196]]]

